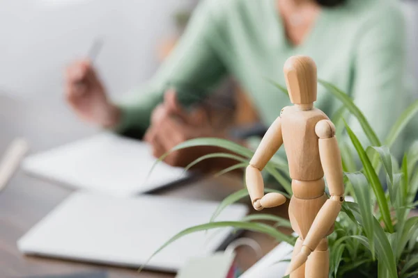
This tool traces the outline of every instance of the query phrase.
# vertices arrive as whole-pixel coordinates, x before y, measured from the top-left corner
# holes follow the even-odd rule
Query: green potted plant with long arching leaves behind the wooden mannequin
[[[382,145],[375,131],[367,122],[366,117],[355,106],[353,101],[344,92],[334,85],[320,80],[327,91],[343,103],[343,108],[337,111],[333,120],[337,130],[346,129],[355,152],[361,161],[361,168],[356,167],[355,156],[347,142],[340,142],[344,182],[346,195],[354,198],[355,202],[345,202],[339,218],[336,220],[334,232],[329,236],[330,243],[330,277],[354,277],[359,274],[364,277],[395,278],[412,277],[418,275],[418,217],[410,217],[410,209],[415,207],[415,195],[418,190],[418,142],[405,152],[401,165],[393,158],[389,149],[392,147],[398,134],[418,111],[418,101],[408,107],[398,118]],[[277,85],[277,84],[274,84]],[[277,85],[279,90],[286,89]],[[357,117],[359,123],[369,139],[370,146],[364,148],[350,126],[343,120],[344,111]],[[199,160],[213,157],[228,157],[238,161],[236,167],[224,170],[228,172],[237,167],[245,167],[254,152],[234,142],[218,138],[198,138],[183,142],[176,149],[198,145],[216,145],[227,149],[234,155],[226,153],[211,154]],[[164,158],[164,157],[163,157]],[[161,158],[161,159],[163,159]],[[290,197],[291,185],[288,178],[288,166],[279,157],[274,157],[265,167],[265,171],[274,177],[283,186]],[[384,189],[379,177],[386,177],[387,190]],[[266,189],[267,192],[281,192]],[[282,192],[281,192],[282,193]],[[215,211],[207,224],[191,227],[171,238],[157,252],[186,234],[215,229],[219,227],[235,227],[236,229],[249,229],[268,234],[279,241],[294,244],[295,237],[287,236],[277,231],[275,227],[258,222],[258,220],[274,220],[277,225],[289,227],[288,220],[273,215],[251,215],[240,222],[215,222],[215,218],[229,204],[238,202],[247,197],[244,188],[237,193],[226,197]],[[276,225],[276,226],[277,226]],[[156,252],[156,253],[157,253]]]

